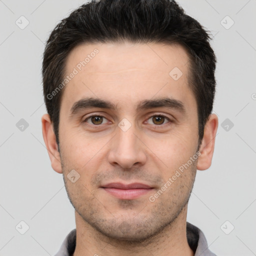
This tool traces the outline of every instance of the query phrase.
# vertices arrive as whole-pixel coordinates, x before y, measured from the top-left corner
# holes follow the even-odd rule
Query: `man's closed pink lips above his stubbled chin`
[[[143,183],[108,183],[101,186],[107,193],[119,199],[135,199],[152,191],[153,187]]]

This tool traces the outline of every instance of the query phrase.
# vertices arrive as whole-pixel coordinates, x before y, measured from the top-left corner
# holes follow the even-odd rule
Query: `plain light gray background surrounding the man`
[[[178,2],[212,32],[218,60],[215,153],[212,166],[197,171],[187,220],[217,255],[256,255],[256,0]],[[42,138],[40,69],[50,31],[82,3],[0,0],[0,255],[54,255],[75,227],[62,175],[51,169]],[[21,15],[29,21],[24,29],[15,24]],[[229,29],[226,15],[234,21]],[[29,124],[23,131],[16,127],[21,118]],[[226,118],[234,124],[227,131]],[[21,220],[29,226],[24,234],[15,229]],[[226,220],[231,224],[221,229]]]

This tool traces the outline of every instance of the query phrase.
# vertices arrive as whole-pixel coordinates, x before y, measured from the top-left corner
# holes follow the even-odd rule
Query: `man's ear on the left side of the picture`
[[[41,118],[41,121],[42,121],[42,136],[50,157],[51,167],[56,172],[62,173],[62,168],[60,164],[60,154],[58,151],[56,136],[53,131],[53,124],[50,120],[50,116],[48,114],[44,114]]]

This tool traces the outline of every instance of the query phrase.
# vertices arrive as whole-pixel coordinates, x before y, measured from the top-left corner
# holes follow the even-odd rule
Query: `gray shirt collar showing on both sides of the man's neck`
[[[196,226],[186,222],[186,237],[194,256],[216,256],[208,249],[206,238],[203,232]],[[65,237],[55,256],[72,256],[75,249],[76,229],[73,229]]]

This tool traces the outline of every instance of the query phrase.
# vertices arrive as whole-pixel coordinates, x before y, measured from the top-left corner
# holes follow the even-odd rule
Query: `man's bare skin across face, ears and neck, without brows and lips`
[[[187,201],[196,169],[211,164],[218,121],[215,114],[209,116],[198,145],[186,50],[154,43],[82,44],[70,52],[66,74],[94,48],[99,53],[64,88],[59,151],[49,115],[42,116],[51,166],[63,173],[75,209],[74,255],[194,255],[186,239]],[[176,81],[169,75],[174,67],[182,71]],[[136,109],[142,100],[166,96],[182,102],[184,111],[166,106]],[[117,108],[92,107],[71,115],[73,104],[86,97],[108,100]],[[93,124],[88,118],[92,114],[103,116],[102,123]],[[131,125],[126,131],[118,126],[123,118]],[[151,202],[149,196],[198,148],[197,160]],[[74,183],[67,178],[72,169],[80,175]],[[153,189],[135,199],[119,199],[102,189],[109,182],[140,182]]]

